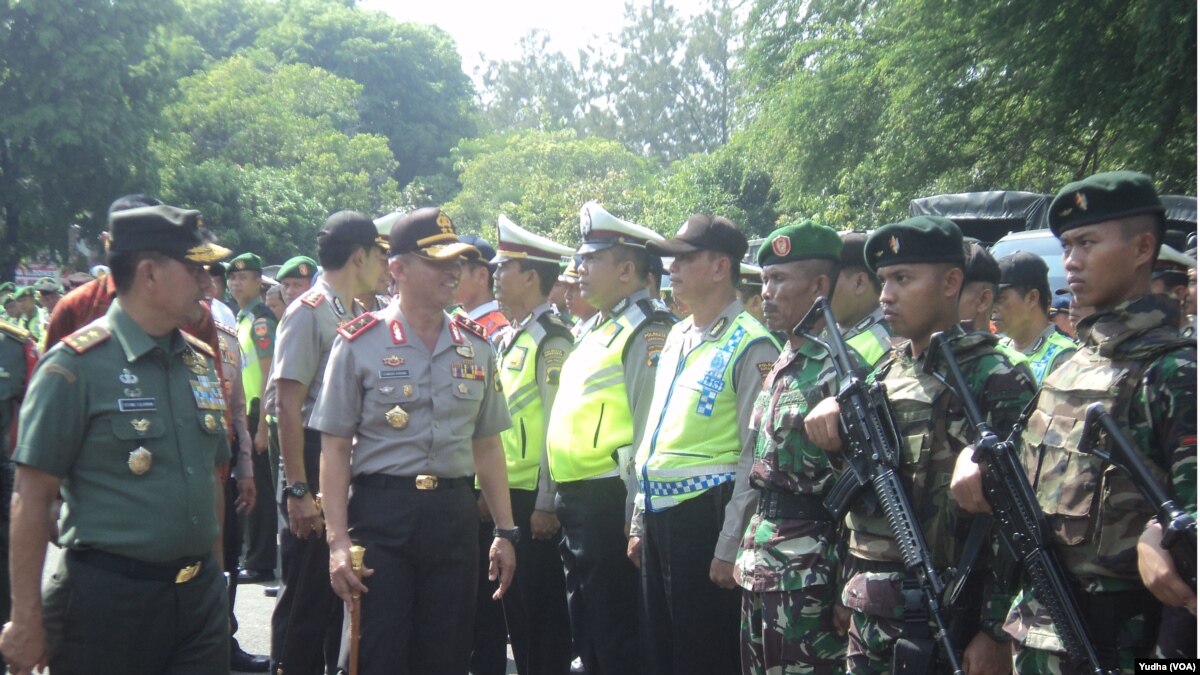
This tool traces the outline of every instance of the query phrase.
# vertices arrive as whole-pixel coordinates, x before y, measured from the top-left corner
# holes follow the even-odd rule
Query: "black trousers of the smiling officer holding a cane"
[[[479,563],[474,492],[354,484],[349,524],[374,571],[364,580],[359,673],[466,675]]]

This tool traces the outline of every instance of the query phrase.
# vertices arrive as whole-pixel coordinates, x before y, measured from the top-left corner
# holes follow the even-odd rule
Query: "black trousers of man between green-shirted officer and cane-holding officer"
[[[308,488],[320,490],[320,434],[304,431],[304,464]],[[329,585],[329,544],[312,534],[298,539],[288,528],[288,497],[281,496],[280,597],[271,614],[271,671],[318,675],[337,669],[342,643],[343,603]],[[270,500],[266,500],[270,503]]]

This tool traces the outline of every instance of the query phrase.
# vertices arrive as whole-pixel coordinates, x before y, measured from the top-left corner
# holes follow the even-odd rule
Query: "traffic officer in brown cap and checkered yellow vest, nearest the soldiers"
[[[630,558],[642,572],[643,647],[652,673],[737,673],[733,561],[756,497],[749,461],[734,483],[750,438],[739,420],[779,345],[736,297],[748,243],[733,222],[694,215],[646,247],[674,256],[671,289],[691,315],[667,335],[637,448]]]

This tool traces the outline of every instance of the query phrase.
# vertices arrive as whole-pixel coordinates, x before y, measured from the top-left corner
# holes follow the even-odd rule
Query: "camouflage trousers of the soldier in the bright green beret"
[[[834,628],[836,587],[742,592],[743,675],[841,673],[846,639]]]

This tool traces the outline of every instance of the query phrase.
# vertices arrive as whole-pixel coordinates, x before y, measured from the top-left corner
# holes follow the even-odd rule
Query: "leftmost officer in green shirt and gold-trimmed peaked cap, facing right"
[[[229,671],[218,537],[229,461],[210,347],[179,330],[206,309],[199,214],[168,205],[109,217],[116,299],[54,345],[22,407],[13,455],[16,673]],[[65,554],[42,590],[47,513],[61,492]],[[40,592],[41,590],[41,592]]]

